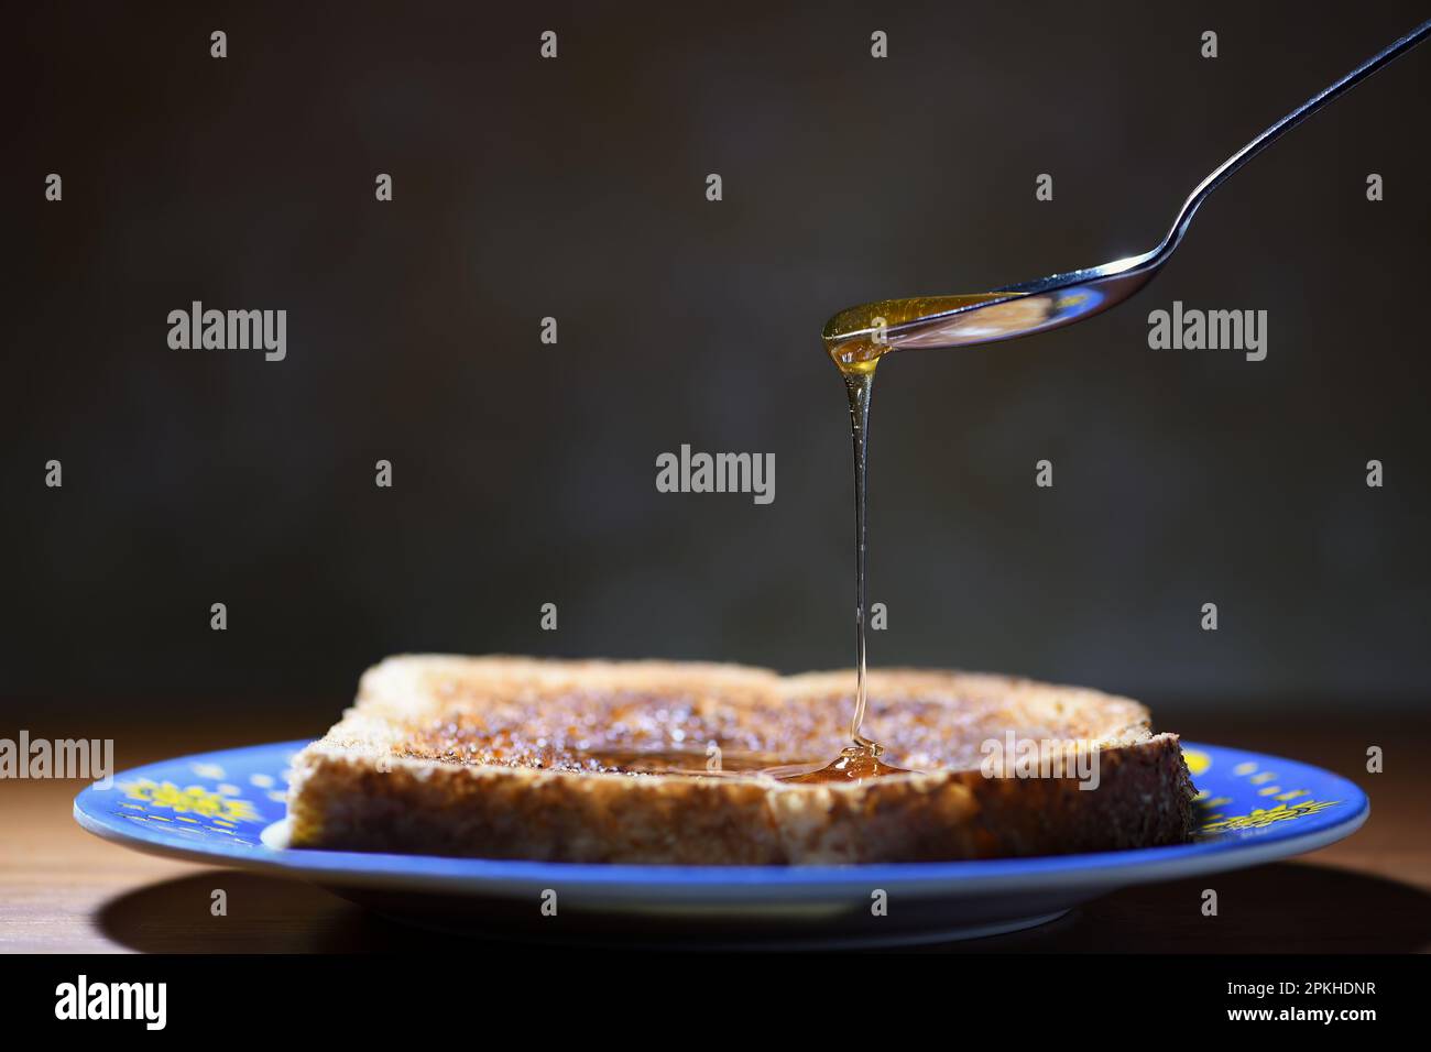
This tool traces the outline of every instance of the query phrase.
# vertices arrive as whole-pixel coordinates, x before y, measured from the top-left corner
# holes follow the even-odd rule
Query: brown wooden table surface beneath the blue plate
[[[1176,726],[1193,740],[1292,756],[1351,777],[1371,796],[1371,819],[1349,840],[1295,862],[1135,887],[1030,932],[940,949],[1236,953],[1431,948],[1431,770],[1425,763],[1431,733],[1424,721],[1404,714],[1355,724],[1304,717],[1291,729],[1288,723],[1182,717]],[[130,727],[119,736],[117,761],[132,767],[318,730],[288,721],[250,727],[242,736],[213,727],[153,736]],[[124,749],[130,741],[147,746]],[[1385,773],[1365,773],[1368,744],[1387,750]],[[70,817],[77,790],[72,781],[0,781],[0,952],[451,949],[451,936],[385,922],[308,885],[156,859],[104,843]],[[1199,910],[1206,886],[1218,889],[1219,917]],[[225,923],[209,916],[215,887],[229,895]]]

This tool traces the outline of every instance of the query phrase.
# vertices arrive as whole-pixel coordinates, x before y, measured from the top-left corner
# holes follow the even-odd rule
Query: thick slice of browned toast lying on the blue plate
[[[870,674],[866,733],[912,773],[791,784],[847,744],[850,671],[405,656],[295,759],[290,843],[552,862],[824,865],[987,859],[1186,840],[1192,781],[1148,710],[953,671]],[[989,740],[1098,761],[986,777]],[[1062,741],[1073,744],[1056,744]],[[713,749],[714,746],[714,749]],[[718,750],[720,770],[711,759]],[[1013,754],[1009,754],[1010,757]],[[1072,764],[1065,767],[1070,770]],[[1016,773],[1015,764],[1003,769]]]

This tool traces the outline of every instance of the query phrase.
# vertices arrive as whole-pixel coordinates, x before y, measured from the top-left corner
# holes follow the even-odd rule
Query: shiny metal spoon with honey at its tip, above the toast
[[[830,356],[846,372],[873,372],[880,356],[904,348],[967,346],[1058,329],[1102,313],[1138,292],[1163,268],[1193,213],[1228,176],[1296,127],[1327,103],[1351,90],[1431,34],[1431,20],[1382,49],[1351,73],[1268,127],[1219,165],[1183,202],[1158,248],[1102,266],[1049,275],[993,292],[963,296],[884,299],[841,311],[824,326]]]

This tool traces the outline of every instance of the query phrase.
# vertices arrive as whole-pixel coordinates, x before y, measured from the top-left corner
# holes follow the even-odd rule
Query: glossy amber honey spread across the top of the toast
[[[454,688],[441,717],[396,726],[392,754],[537,771],[774,777],[806,784],[894,771],[873,750],[850,743],[846,719],[853,716],[853,698],[839,680],[791,691],[778,703],[766,691],[574,686],[494,700],[481,686]],[[963,697],[959,733],[950,733],[947,713],[946,698],[902,681],[871,698],[869,714],[879,724],[880,744],[904,767],[977,767],[979,743],[1007,729],[1002,693]]]

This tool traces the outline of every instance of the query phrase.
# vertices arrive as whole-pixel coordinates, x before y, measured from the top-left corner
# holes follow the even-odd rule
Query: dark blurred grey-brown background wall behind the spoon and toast
[[[1425,17],[1325,11],[9,16],[6,726],[242,700],[240,724],[306,706],[316,727],[409,650],[849,664],[850,439],[824,319],[1151,248],[1226,155]],[[1296,130],[1132,303],[881,368],[877,666],[1155,711],[1424,719],[1428,87],[1431,47]],[[169,349],[166,315],[193,299],[286,308],[288,359]],[[1266,309],[1266,361],[1151,351],[1148,312],[1173,299]],[[774,452],[774,504],[658,494],[655,457],[683,442]]]

